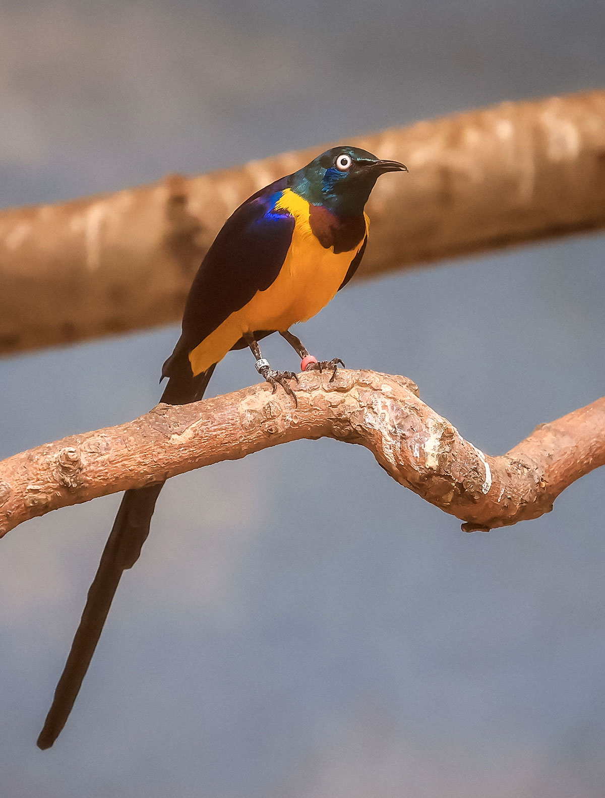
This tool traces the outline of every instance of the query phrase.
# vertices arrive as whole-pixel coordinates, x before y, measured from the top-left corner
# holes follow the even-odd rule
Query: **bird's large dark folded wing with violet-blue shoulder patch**
[[[240,205],[208,250],[183,316],[182,338],[190,351],[279,275],[295,228],[293,216],[273,209],[287,180],[276,181]]]

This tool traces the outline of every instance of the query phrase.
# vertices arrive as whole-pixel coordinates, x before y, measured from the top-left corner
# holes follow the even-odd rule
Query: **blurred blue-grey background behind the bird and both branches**
[[[0,203],[602,86],[604,34],[601,0],[5,0]],[[405,373],[501,453],[604,393],[604,243],[354,284],[301,334]],[[144,412],[177,334],[0,361],[0,456]],[[295,365],[283,342],[267,355]],[[231,354],[212,392],[254,381]],[[593,472],[549,516],[465,535],[332,440],[170,480],[44,753],[119,498],[28,522],[0,543],[0,795],[600,798],[603,487]]]

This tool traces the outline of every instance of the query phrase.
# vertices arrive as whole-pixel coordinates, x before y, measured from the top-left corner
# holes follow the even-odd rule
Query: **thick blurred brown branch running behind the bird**
[[[605,91],[503,103],[351,143],[409,167],[374,189],[360,276],[605,227]],[[227,215],[325,146],[0,212],[0,354],[179,321]]]

